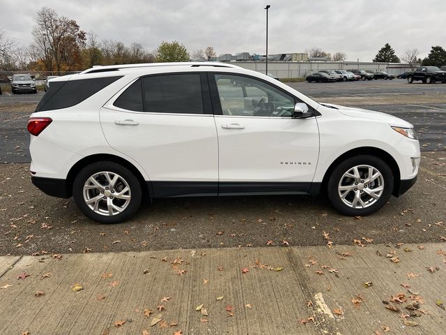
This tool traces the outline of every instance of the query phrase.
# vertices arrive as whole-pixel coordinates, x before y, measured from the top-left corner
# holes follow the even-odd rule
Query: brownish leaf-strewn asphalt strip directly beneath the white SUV
[[[132,220],[100,225],[72,199],[51,198],[28,164],[0,165],[0,255],[181,248],[325,246],[446,240],[446,151],[424,152],[418,181],[367,217],[338,214],[325,198],[272,195],[145,202]]]

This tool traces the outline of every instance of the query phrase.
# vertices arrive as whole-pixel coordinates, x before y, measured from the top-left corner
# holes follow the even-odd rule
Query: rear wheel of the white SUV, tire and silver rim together
[[[109,187],[114,178],[117,179],[114,186]],[[128,220],[136,214],[142,198],[137,177],[123,165],[108,161],[92,163],[83,168],[75,178],[72,193],[80,211],[98,223]],[[123,193],[120,195],[123,198],[118,198],[118,193]],[[87,199],[97,200],[87,204]]]

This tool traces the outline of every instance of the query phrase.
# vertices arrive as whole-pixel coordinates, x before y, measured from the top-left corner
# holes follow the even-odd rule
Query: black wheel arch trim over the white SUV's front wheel
[[[389,165],[390,170],[392,170],[394,185],[393,185],[393,194],[396,195],[397,190],[399,190],[399,186],[401,184],[401,173],[399,171],[399,166],[397,161],[394,160],[392,155],[390,155],[387,151],[383,149],[379,149],[376,147],[360,147],[351,149],[349,151],[344,152],[338,158],[336,158],[333,163],[331,163],[330,167],[325,171],[325,174],[322,179],[321,190],[326,191],[328,186],[328,179],[334,170],[334,168],[341,163],[341,161],[346,160],[347,158],[351,158],[353,156],[358,155],[371,155],[381,158],[385,163]]]

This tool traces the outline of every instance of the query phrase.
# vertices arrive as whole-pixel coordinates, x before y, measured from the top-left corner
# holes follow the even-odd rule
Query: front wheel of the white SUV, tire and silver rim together
[[[358,172],[357,179],[346,176],[348,172],[351,172],[352,176],[357,174],[353,170],[355,167]],[[379,174],[371,183],[367,183],[369,168],[372,169],[373,176]],[[334,168],[328,180],[327,191],[333,207],[341,214],[366,216],[384,206],[392,195],[393,186],[392,170],[382,159],[376,156],[359,155],[347,158]],[[340,190],[339,187],[347,188],[347,190]],[[367,190],[377,190],[371,193],[378,198],[369,195],[370,191]],[[356,198],[357,195],[359,198]]]

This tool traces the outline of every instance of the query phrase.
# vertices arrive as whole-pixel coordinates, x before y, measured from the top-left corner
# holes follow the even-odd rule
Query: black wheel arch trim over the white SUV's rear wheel
[[[72,185],[75,181],[77,174],[83,168],[85,168],[87,165],[90,165],[91,163],[100,162],[100,161],[111,161],[114,163],[121,164],[125,168],[128,168],[128,170],[130,170],[134,174],[134,176],[137,177],[139,184],[141,185],[143,197],[148,196],[149,198],[153,198],[153,190],[152,190],[150,184],[148,184],[144,180],[144,177],[142,176],[141,172],[139,172],[139,170],[129,161],[125,160],[122,157],[115,156],[112,154],[94,154],[91,156],[86,156],[86,157],[82,158],[81,160],[77,161],[77,163],[75,163],[75,165],[73,165],[72,168],[70,169],[70,171],[68,172],[68,175],[66,178],[66,188],[67,188],[66,191],[69,196],[72,195]]]

